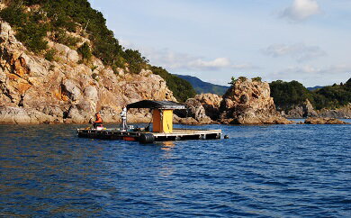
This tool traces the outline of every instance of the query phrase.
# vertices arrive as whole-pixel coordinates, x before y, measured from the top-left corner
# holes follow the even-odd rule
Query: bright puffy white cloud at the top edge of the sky
[[[299,22],[315,14],[320,14],[320,5],[316,0],[293,0],[293,5],[285,8],[282,17]]]

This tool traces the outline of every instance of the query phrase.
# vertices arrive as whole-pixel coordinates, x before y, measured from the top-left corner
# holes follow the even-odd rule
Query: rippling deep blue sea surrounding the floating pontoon
[[[188,126],[229,140],[151,145],[78,127],[0,125],[1,217],[351,217],[351,125]]]

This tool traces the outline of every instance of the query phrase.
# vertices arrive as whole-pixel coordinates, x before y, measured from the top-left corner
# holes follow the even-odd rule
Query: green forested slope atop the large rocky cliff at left
[[[4,0],[0,17],[10,23],[16,38],[28,50],[48,60],[57,50],[48,50],[48,41],[66,44],[76,50],[85,64],[94,55],[117,73],[128,68],[139,74],[141,68],[157,69],[148,63],[139,50],[125,49],[106,27],[103,14],[91,8],[87,0]],[[87,39],[82,41],[83,39]],[[92,66],[94,68],[94,66]],[[159,71],[159,70],[158,70]],[[166,80],[179,101],[193,96],[193,87],[185,80],[172,77],[166,69],[157,73]]]

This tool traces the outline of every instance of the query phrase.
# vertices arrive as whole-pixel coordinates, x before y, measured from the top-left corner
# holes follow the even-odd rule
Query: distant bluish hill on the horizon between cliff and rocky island
[[[217,95],[224,95],[224,93],[229,88],[229,86],[220,86],[220,85],[215,85],[215,84],[211,84],[208,82],[203,82],[198,77],[176,75],[176,74],[175,74],[175,76],[183,78],[186,81],[188,81],[193,86],[196,93],[198,93],[198,94],[213,93],[213,94],[217,94]]]

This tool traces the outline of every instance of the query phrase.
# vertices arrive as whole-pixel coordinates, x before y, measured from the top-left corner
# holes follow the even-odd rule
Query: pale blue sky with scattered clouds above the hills
[[[351,0],[88,0],[126,49],[173,74],[328,86],[351,77]]]

